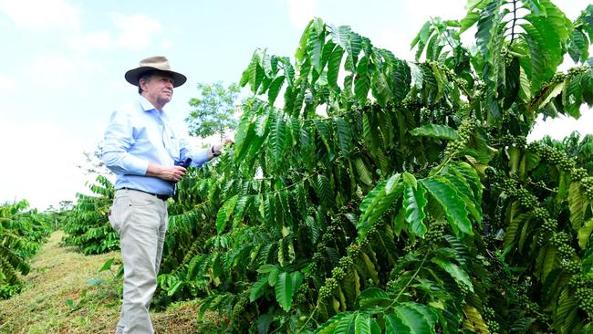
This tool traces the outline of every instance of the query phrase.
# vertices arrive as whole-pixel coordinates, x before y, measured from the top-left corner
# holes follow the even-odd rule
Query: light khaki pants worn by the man
[[[120,189],[115,192],[109,223],[120,234],[124,268],[116,333],[154,333],[149,308],[161,266],[167,204],[150,193]]]

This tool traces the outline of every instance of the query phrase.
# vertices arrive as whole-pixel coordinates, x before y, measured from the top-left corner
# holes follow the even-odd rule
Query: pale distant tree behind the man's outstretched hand
[[[218,134],[222,141],[226,130],[237,127],[234,101],[239,95],[239,87],[232,83],[224,88],[223,83],[218,81],[213,84],[199,83],[198,91],[201,96],[190,99],[193,110],[185,118],[190,134],[197,137]]]

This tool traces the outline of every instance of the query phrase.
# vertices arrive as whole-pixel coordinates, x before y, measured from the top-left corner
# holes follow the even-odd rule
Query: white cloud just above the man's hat
[[[161,22],[142,14],[126,16],[114,13],[111,14],[111,22],[116,30],[115,35],[107,30],[88,33],[75,40],[74,47],[83,51],[116,48],[144,49],[151,47],[153,38],[162,31]]]

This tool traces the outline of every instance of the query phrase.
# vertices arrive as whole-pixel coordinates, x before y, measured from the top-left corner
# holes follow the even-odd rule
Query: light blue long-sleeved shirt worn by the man
[[[173,183],[146,176],[149,162],[172,166],[192,158],[193,167],[208,162],[208,150],[195,150],[173,132],[166,112],[156,110],[148,99],[113,111],[105,130],[103,162],[117,176],[115,189],[130,188],[172,195]]]

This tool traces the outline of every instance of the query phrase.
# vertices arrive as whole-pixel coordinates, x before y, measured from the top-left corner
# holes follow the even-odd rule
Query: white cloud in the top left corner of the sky
[[[4,13],[16,26],[30,30],[78,29],[78,9],[63,0],[0,0]]]

